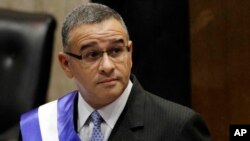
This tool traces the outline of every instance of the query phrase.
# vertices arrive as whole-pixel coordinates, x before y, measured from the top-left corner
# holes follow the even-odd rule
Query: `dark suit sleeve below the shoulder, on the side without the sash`
[[[209,130],[198,114],[192,115],[183,126],[178,141],[210,141]]]

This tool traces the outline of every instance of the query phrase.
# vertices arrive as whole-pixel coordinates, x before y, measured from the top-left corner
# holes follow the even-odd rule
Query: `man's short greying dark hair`
[[[76,7],[65,18],[61,32],[63,46],[68,46],[69,32],[75,26],[81,24],[101,23],[110,18],[114,18],[119,21],[127,32],[127,36],[129,37],[127,27],[118,12],[102,4],[87,3]]]

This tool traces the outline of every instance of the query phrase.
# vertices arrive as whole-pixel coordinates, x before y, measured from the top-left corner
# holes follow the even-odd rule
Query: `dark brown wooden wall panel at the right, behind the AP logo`
[[[192,104],[213,141],[250,124],[249,15],[249,0],[190,0]]]

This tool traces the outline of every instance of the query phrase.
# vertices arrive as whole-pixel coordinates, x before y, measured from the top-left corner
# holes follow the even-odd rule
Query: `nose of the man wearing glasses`
[[[110,75],[114,71],[115,68],[114,62],[109,58],[106,52],[103,52],[103,56],[100,60],[98,68],[99,71],[105,75]]]

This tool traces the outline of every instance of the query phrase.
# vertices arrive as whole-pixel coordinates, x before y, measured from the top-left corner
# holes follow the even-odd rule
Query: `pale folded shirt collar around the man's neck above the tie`
[[[118,120],[119,116],[121,115],[127,103],[132,86],[133,83],[129,81],[126,89],[114,102],[97,110],[102,116],[103,120],[112,129],[114,128],[116,121]],[[88,120],[90,114],[95,110],[82,98],[80,92],[78,93],[78,95],[79,98],[78,98],[77,131],[79,131],[83,127],[83,125]]]

